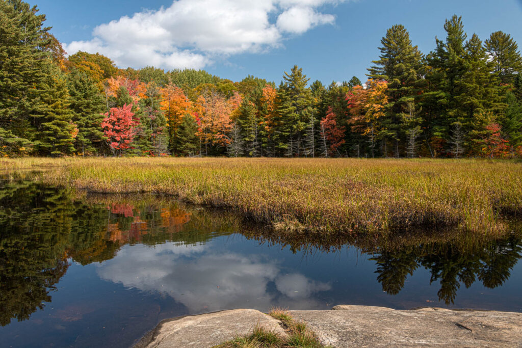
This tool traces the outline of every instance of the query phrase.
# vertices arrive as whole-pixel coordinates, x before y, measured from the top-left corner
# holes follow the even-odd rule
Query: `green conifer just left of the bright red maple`
[[[68,88],[71,97],[70,109],[74,112],[73,122],[78,127],[75,148],[81,155],[102,152],[101,122],[102,113],[105,111],[105,98],[96,82],[78,70],[69,74]]]

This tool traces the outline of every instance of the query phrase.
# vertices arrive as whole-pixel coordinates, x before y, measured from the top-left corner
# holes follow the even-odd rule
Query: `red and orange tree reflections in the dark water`
[[[134,206],[129,204],[113,203],[108,209],[112,214],[124,215],[125,218],[133,218],[133,222],[126,230],[121,230],[119,222],[108,225],[107,231],[109,240],[112,242],[120,242],[122,244],[128,242],[140,242],[142,237],[149,233],[158,232],[159,227],[161,232],[177,233],[181,232],[183,225],[190,221],[191,215],[184,210],[178,208],[162,208],[159,210],[161,221],[154,221],[153,219],[142,219],[140,214],[134,214]],[[149,223],[150,222],[150,225]],[[159,223],[159,225],[157,225]]]

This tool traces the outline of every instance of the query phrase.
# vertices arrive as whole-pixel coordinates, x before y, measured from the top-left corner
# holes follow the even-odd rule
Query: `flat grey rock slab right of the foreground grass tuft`
[[[334,347],[520,347],[522,314],[497,311],[336,306],[292,310],[324,345]]]

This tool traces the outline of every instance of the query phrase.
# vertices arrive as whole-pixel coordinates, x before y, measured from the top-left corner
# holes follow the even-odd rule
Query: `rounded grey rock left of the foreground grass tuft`
[[[279,320],[255,309],[232,309],[164,320],[135,347],[212,347],[252,333],[256,325],[286,335]]]

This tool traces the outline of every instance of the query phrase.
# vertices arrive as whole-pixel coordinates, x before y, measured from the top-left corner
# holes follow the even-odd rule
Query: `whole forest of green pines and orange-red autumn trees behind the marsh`
[[[297,65],[279,85],[121,69],[68,55],[44,23],[36,6],[0,0],[3,157],[522,157],[517,43],[468,35],[457,15],[428,53],[394,25],[367,81],[328,86]]]

